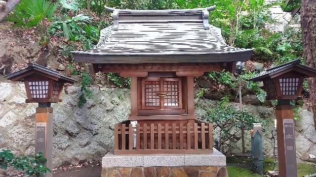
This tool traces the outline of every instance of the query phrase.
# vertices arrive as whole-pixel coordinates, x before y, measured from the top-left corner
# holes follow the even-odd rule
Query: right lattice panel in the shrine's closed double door
[[[163,81],[163,91],[167,93],[163,97],[164,106],[178,106],[179,105],[179,81]]]

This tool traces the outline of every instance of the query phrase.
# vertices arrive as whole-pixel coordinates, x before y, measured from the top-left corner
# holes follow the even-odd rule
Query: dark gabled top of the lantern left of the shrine
[[[74,79],[71,79],[69,77],[66,77],[66,76],[63,76],[61,75],[58,71],[55,71],[55,70],[52,70],[52,69],[49,69],[49,68],[46,68],[44,66],[41,66],[39,64],[35,64],[35,63],[28,63],[28,67],[25,68],[25,69],[22,69],[20,71],[17,71],[17,72],[14,72],[14,73],[11,73],[9,75],[6,75],[5,78],[6,79],[12,79],[14,77],[17,77],[21,74],[24,74],[25,72],[28,72],[30,70],[37,70],[37,71],[40,71],[42,73],[45,73],[45,74],[48,74],[48,75],[51,75],[51,76],[54,76],[56,78],[59,78],[61,80],[63,80],[64,82],[67,82],[67,83],[74,83],[74,82],[77,82],[76,80]]]

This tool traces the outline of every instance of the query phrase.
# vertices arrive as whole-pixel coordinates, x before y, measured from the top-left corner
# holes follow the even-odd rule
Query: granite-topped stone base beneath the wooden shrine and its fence
[[[226,157],[212,154],[114,155],[102,158],[101,177],[228,177]]]

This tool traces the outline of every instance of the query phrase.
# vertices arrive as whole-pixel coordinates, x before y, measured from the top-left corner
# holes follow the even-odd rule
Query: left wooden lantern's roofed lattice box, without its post
[[[11,81],[21,81],[25,84],[27,103],[57,103],[65,83],[73,84],[75,80],[60,75],[59,72],[35,63],[6,76]]]

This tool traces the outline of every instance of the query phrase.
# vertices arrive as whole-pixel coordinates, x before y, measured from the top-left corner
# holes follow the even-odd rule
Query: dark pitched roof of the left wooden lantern
[[[30,76],[34,73],[49,77],[53,80],[60,81],[63,83],[74,84],[74,82],[77,82],[74,79],[61,75],[58,71],[49,69],[47,67],[35,63],[28,63],[27,68],[8,74],[5,76],[5,78],[12,81],[24,81],[25,77]]]

